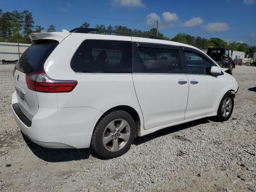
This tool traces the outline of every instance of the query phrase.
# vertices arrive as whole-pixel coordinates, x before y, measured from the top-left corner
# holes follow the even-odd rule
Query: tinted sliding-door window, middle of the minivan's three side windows
[[[182,73],[180,52],[138,47],[139,71],[142,73]]]

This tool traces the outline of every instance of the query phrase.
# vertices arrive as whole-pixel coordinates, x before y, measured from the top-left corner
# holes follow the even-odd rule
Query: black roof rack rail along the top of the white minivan
[[[125,32],[125,31],[108,30],[108,29],[96,29],[96,28],[74,28],[70,32],[71,33],[107,32],[107,33],[134,35],[134,36],[146,37],[151,39],[162,39],[154,35],[145,35],[145,34],[139,34],[139,33],[131,33],[131,32]]]

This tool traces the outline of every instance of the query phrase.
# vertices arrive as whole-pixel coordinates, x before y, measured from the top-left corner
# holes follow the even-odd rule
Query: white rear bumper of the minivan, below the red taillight
[[[12,95],[12,104],[16,101]],[[18,106],[18,105],[14,105]],[[31,126],[25,124],[12,105],[14,118],[20,130],[36,144],[46,148],[88,148],[92,132],[101,111],[90,107],[41,108],[32,118]]]

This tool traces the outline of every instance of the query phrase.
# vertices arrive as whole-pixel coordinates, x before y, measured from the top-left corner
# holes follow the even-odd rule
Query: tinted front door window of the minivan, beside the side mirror
[[[210,74],[212,63],[193,52],[185,51],[188,74]]]

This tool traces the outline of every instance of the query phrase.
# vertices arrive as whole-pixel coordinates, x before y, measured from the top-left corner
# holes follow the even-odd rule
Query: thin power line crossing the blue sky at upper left
[[[108,20],[120,20],[120,21],[146,22],[146,20],[128,20],[128,19],[102,18],[102,17],[94,17],[94,16],[85,16],[85,15],[76,15],[76,14],[68,14],[68,13],[59,13],[59,12],[52,12],[52,11],[44,11],[44,10],[31,9],[31,8],[24,8],[24,7],[11,6],[11,5],[3,5],[3,4],[2,4],[1,6],[13,7],[13,8],[18,8],[18,9],[23,9],[23,10],[40,11],[40,12],[52,13],[52,14],[60,14],[60,15],[68,15],[68,16],[78,16],[78,17],[94,18],[94,19],[108,19]]]

